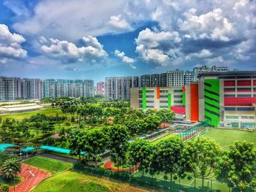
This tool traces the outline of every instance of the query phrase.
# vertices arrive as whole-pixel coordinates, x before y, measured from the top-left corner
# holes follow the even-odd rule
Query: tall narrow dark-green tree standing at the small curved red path
[[[113,125],[107,130],[109,137],[110,159],[118,166],[124,164],[129,147],[129,132],[126,126]]]

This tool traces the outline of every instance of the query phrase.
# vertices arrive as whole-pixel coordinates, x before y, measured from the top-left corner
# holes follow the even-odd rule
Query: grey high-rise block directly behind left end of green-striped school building
[[[138,86],[138,77],[106,77],[106,99],[129,99],[130,88]]]

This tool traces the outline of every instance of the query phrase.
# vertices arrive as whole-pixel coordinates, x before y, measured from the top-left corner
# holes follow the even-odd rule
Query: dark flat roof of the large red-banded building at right
[[[200,72],[197,77],[256,75],[256,71]]]

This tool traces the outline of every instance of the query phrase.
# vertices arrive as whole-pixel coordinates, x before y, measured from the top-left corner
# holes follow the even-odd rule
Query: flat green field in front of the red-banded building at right
[[[256,132],[241,131],[234,129],[208,128],[197,137],[206,137],[215,140],[224,149],[232,145],[234,141],[253,142],[256,146]]]

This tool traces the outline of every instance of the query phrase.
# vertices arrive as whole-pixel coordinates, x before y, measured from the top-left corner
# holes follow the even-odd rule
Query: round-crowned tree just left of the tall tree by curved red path
[[[105,152],[107,141],[107,135],[100,129],[89,130],[83,137],[84,150],[89,157],[92,156],[95,166],[97,166],[97,161],[99,161],[97,155]]]

